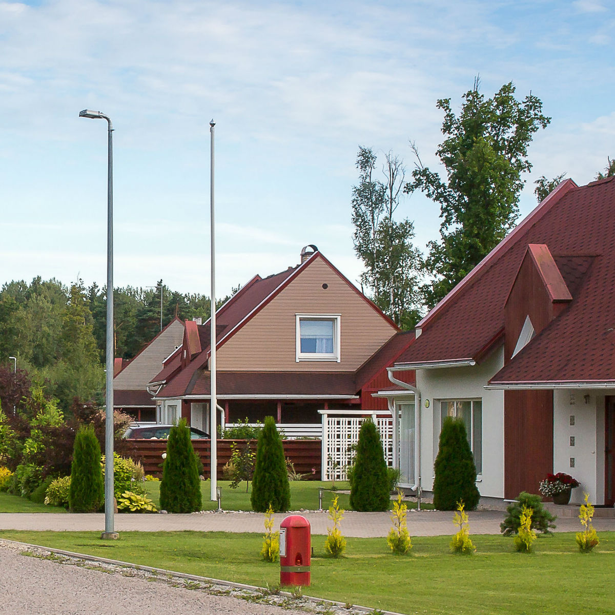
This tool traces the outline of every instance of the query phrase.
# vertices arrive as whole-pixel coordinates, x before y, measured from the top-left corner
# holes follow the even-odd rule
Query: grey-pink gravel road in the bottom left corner
[[[89,565],[95,565],[89,563]],[[0,546],[2,615],[305,615],[231,596],[171,587],[139,577],[104,573],[20,554]]]

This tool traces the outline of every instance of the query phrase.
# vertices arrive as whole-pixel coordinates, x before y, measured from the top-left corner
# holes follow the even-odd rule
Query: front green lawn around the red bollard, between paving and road
[[[279,581],[279,566],[258,556],[259,534],[122,532],[103,542],[93,533],[2,531],[0,538],[252,585]],[[531,555],[513,552],[502,536],[472,539],[474,555],[451,555],[450,538],[436,536],[413,538],[411,555],[395,557],[384,539],[349,538],[346,557],[334,560],[325,557],[325,538],[314,536],[305,593],[400,613],[615,612],[615,533],[601,533],[587,555],[571,533],[541,537]]]

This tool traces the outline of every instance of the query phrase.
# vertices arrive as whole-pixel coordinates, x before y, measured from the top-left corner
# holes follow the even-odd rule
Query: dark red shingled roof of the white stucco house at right
[[[547,245],[573,299],[491,383],[613,381],[615,178],[558,186],[427,315],[398,364],[479,357],[529,244]]]

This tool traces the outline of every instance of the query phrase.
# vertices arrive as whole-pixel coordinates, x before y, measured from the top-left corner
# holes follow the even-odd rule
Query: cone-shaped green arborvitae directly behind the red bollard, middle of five
[[[290,485],[284,448],[272,416],[265,418],[263,429],[258,435],[250,502],[255,512],[266,512],[269,504],[276,512],[290,508]]]

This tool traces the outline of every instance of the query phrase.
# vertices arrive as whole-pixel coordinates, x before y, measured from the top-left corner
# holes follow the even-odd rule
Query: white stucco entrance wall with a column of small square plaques
[[[583,493],[595,504],[605,502],[605,392],[554,391],[553,470],[566,472],[581,486],[571,502],[581,504]],[[609,392],[609,394],[611,394]],[[589,399],[585,400],[585,395]],[[570,417],[574,416],[574,425]],[[574,446],[570,437],[574,437]],[[570,467],[574,458],[574,467]]]

